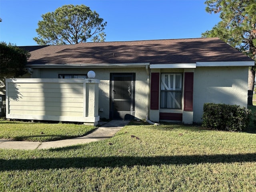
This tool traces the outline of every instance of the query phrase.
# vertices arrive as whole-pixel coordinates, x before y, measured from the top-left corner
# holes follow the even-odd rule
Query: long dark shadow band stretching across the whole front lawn
[[[217,154],[191,156],[109,156],[109,157],[74,157],[74,158],[34,158],[34,159],[0,159],[0,171],[8,170],[38,170],[58,168],[86,167],[122,167],[122,166],[151,166],[160,164],[202,164],[202,163],[234,163],[256,162],[256,153],[248,154]]]

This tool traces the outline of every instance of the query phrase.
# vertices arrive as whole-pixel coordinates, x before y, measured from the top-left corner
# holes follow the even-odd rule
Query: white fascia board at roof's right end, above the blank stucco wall
[[[254,61],[196,62],[197,67],[254,66]]]

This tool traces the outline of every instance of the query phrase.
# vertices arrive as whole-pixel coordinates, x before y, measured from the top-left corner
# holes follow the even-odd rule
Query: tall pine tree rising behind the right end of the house
[[[256,60],[256,0],[206,0],[206,11],[220,14],[221,21],[203,37],[219,37]],[[252,105],[256,66],[248,76],[248,105]]]

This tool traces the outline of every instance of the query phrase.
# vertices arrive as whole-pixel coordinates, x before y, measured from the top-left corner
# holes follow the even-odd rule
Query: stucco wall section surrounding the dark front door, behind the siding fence
[[[58,74],[87,74],[93,70],[99,84],[99,111],[100,118],[109,118],[110,110],[110,73],[135,73],[135,117],[146,119],[147,111],[147,73],[146,68],[52,68],[33,69],[34,78],[58,78]]]

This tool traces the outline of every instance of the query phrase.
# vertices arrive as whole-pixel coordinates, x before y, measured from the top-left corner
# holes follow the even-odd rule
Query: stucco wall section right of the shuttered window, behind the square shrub
[[[194,72],[194,122],[202,122],[206,102],[247,107],[248,67],[197,67]]]

